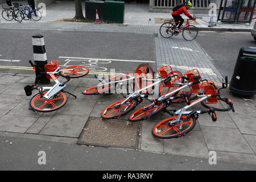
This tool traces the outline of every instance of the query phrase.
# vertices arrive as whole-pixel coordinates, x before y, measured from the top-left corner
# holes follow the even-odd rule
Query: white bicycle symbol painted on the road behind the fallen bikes
[[[81,65],[88,69],[91,72],[105,72],[108,68],[103,67],[105,64],[110,64],[110,60],[99,60],[99,59],[66,59],[64,60],[65,64],[63,66],[68,67],[71,65]]]

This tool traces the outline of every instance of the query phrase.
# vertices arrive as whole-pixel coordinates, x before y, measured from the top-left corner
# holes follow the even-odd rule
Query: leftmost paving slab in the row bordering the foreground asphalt
[[[37,118],[21,117],[14,115],[4,115],[0,118],[0,131],[10,131],[15,133],[25,133]]]

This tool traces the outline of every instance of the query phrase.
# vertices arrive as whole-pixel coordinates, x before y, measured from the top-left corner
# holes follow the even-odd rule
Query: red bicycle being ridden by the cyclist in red
[[[160,35],[162,35],[163,38],[171,38],[171,36],[173,35],[179,35],[179,31],[182,31],[182,36],[185,40],[191,41],[197,37],[199,28],[189,24],[189,19],[187,20],[187,23],[185,23],[180,28],[179,31],[176,31],[176,23],[179,23],[179,22],[168,21],[163,23],[160,26]]]

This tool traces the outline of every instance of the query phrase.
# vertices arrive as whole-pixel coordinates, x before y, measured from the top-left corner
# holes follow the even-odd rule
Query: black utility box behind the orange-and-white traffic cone
[[[98,17],[103,22],[104,20],[104,1],[85,1],[85,18],[95,22],[96,10]]]

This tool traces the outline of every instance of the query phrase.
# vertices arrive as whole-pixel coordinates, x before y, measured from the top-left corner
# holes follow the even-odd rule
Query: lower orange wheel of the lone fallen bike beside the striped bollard
[[[60,107],[64,106],[67,102],[67,96],[63,92],[55,94],[55,96],[50,99],[43,97],[46,93],[47,91],[42,94],[38,93],[31,99],[30,107],[33,110],[39,112],[51,112],[60,109]]]

